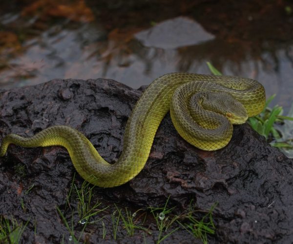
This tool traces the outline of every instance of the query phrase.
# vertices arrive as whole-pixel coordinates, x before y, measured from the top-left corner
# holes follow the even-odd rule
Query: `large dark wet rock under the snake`
[[[0,134],[32,136],[56,124],[80,130],[108,162],[121,154],[125,125],[142,89],[133,90],[111,80],[54,80],[36,86],[0,91]],[[169,204],[177,211],[190,201],[213,212],[215,235],[210,243],[291,243],[293,240],[293,160],[268,145],[248,124],[234,126],[231,142],[223,149],[207,152],[185,142],[175,131],[169,115],[156,134],[150,157],[142,172],[129,183],[94,188],[94,199],[109,206],[103,226],[88,225],[82,240],[115,243],[111,222],[114,203],[132,209]],[[78,222],[67,198],[75,169],[62,147],[21,148],[11,145],[0,159],[0,215],[28,221],[24,243],[60,243],[69,232],[58,214],[58,206],[70,223]],[[74,179],[74,180],[73,180]],[[32,187],[32,188],[31,188]],[[77,207],[72,196],[70,207]],[[134,210],[135,211],[135,210]],[[102,217],[102,216],[101,216]],[[146,222],[148,223],[148,222]],[[155,229],[149,222],[146,228]],[[82,226],[74,224],[78,233]],[[36,232],[35,232],[36,231]],[[118,234],[119,243],[153,243],[152,235],[138,230],[133,237]],[[145,239],[144,239],[145,238]],[[182,228],[166,243],[195,243]]]

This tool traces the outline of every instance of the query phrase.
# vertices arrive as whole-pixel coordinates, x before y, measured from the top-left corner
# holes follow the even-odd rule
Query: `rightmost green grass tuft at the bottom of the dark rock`
[[[194,210],[191,203],[189,205],[189,211],[187,214],[183,215],[182,218],[186,219],[187,222],[182,224],[177,221],[182,227],[184,227],[191,235],[195,238],[200,239],[204,244],[208,244],[208,234],[212,235],[215,233],[215,225],[212,220],[212,212],[217,206],[217,203],[214,203],[207,214],[198,221],[194,214],[198,211]]]

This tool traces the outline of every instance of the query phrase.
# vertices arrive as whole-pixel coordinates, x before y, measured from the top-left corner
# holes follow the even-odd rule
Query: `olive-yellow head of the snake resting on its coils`
[[[207,92],[202,105],[206,109],[224,115],[232,124],[242,124],[248,119],[243,104],[226,92]]]

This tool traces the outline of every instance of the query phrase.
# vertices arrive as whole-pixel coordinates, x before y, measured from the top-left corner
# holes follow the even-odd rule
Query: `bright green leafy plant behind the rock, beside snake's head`
[[[212,74],[222,75],[222,73],[218,71],[210,62],[207,62],[207,65]],[[282,135],[275,127],[277,124],[283,123],[284,120],[293,121],[293,118],[289,116],[282,116],[283,108],[281,106],[275,105],[273,108],[268,107],[274,97],[275,95],[272,95],[266,101],[263,111],[259,115],[249,118],[248,122],[255,131],[264,136],[268,142],[271,142],[272,146],[292,149],[292,139],[283,142],[280,141]],[[277,142],[272,142],[273,140],[277,140]]]

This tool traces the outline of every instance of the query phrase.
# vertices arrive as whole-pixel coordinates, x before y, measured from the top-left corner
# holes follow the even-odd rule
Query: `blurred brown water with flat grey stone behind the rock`
[[[108,78],[133,88],[168,72],[260,81],[293,103],[291,0],[1,0],[0,88]]]

